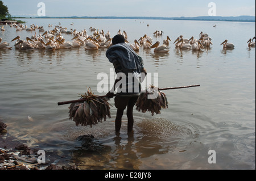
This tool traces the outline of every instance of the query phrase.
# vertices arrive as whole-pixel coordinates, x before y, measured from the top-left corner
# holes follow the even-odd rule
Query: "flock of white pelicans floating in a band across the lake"
[[[71,24],[73,25],[73,23]],[[26,37],[25,40],[21,39],[20,36],[16,36],[13,40],[15,41],[14,47],[19,50],[34,50],[34,49],[46,49],[46,50],[56,50],[56,49],[71,49],[84,47],[85,50],[98,50],[100,48],[109,48],[112,45],[112,37],[110,32],[105,33],[103,30],[99,31],[96,28],[90,27],[89,31],[92,32],[92,35],[88,35],[87,31],[84,29],[82,31],[71,30],[68,31],[67,28],[61,27],[60,23],[58,26],[55,26],[52,30],[45,31],[43,26],[36,26],[31,24],[30,27],[24,26],[24,24],[9,24],[10,27],[14,27],[16,31],[35,31],[35,34],[31,37]],[[48,25],[49,28],[52,27],[51,24]],[[37,35],[37,31],[39,35]],[[4,26],[1,28],[1,31],[5,31]],[[152,33],[154,36],[162,36],[163,31],[156,30]],[[66,41],[63,35],[73,35],[71,41]],[[150,36],[144,35],[138,40],[134,40],[134,43],[129,43],[128,36],[125,31],[119,30],[117,32],[119,35],[125,37],[125,42],[130,45],[136,52],[139,49],[153,49],[154,52],[167,53],[170,51],[169,36],[163,40],[163,44],[160,41],[153,43],[153,39]],[[247,41],[248,47],[255,47],[255,37]],[[185,39],[183,35],[177,37],[174,41],[175,47],[179,49],[192,49],[192,50],[202,50],[204,48],[210,48],[212,39],[209,37],[208,33],[201,32],[199,34],[199,39],[191,37],[190,39]],[[233,49],[235,45],[233,43],[228,43],[228,40],[221,43],[224,49]],[[2,43],[2,38],[0,37],[0,49],[11,49],[10,44],[7,42]]]

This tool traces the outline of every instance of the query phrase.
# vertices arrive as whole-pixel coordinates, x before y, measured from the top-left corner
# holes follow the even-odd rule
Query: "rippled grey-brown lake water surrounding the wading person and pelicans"
[[[255,36],[255,23],[204,22],[179,20],[122,19],[23,19],[45,30],[55,25],[81,31],[90,27],[108,30],[111,36],[126,31],[128,40],[147,34],[153,41],[171,38],[169,53],[154,53],[141,48],[148,73],[158,73],[160,88],[200,85],[189,89],[164,91],[168,109],[161,114],[141,113],[134,108],[134,134],[127,136],[126,113],[120,137],[115,136],[116,108],[110,100],[111,119],[90,127],[76,127],[69,120],[69,104],[90,87],[97,95],[97,75],[107,73],[113,65],[106,49],[83,47],[24,51],[0,50],[0,119],[10,136],[28,146],[57,152],[55,163],[63,161],[80,169],[255,169],[255,48],[247,41]],[[73,23],[73,25],[71,25]],[[52,24],[53,27],[48,27]],[[216,24],[216,27],[213,25]],[[148,25],[148,26],[147,26]],[[34,32],[15,31],[4,26],[3,41],[31,37]],[[156,30],[162,36],[154,36]],[[173,44],[177,37],[194,36],[203,31],[212,38],[210,49],[201,52],[180,50]],[[38,30],[36,31],[39,35]],[[63,34],[67,41],[73,35]],[[225,39],[236,47],[225,50]],[[29,117],[28,117],[29,116]],[[92,134],[100,152],[79,149],[77,137]],[[216,163],[210,164],[208,151],[216,152]],[[48,161],[49,162],[49,161]],[[52,162],[52,160],[51,160]]]

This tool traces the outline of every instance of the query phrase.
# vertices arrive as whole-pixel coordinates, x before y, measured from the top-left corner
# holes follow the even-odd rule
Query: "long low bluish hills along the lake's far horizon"
[[[21,17],[15,17],[21,18]],[[23,17],[24,18],[24,17]],[[198,16],[198,17],[143,17],[143,16],[67,16],[48,17],[40,16],[34,18],[84,18],[84,19],[162,19],[162,20],[206,20],[206,21],[227,21],[227,22],[255,22],[255,16]]]

